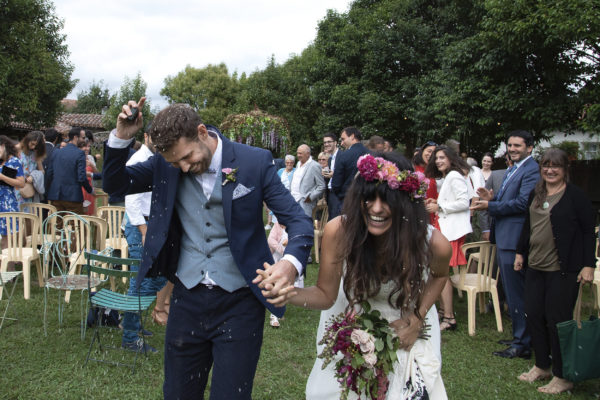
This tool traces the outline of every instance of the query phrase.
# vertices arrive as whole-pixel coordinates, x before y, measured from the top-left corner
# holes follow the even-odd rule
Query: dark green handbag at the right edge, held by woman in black
[[[589,321],[581,321],[582,289],[580,285],[573,320],[556,324],[563,377],[571,382],[600,377],[600,319],[590,317]]]

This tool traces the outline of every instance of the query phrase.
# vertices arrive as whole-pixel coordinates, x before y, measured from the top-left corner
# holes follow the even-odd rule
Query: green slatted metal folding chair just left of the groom
[[[94,275],[103,277],[104,282],[108,282],[112,280],[119,282],[119,278],[134,278],[137,275],[137,271],[128,271],[123,269],[116,269],[117,265],[126,265],[126,266],[139,266],[140,260],[133,258],[120,258],[120,257],[109,257],[101,254],[93,254],[89,252],[85,252],[86,265],[84,269],[87,271],[88,276],[90,277],[90,282],[92,282],[92,277]],[[102,318],[98,318],[96,321],[96,326],[94,329],[94,334],[92,336],[92,342],[90,343],[90,348],[88,350],[87,357],[85,359],[85,364],[87,365],[88,361],[98,361],[105,362],[117,366],[126,366],[131,367],[131,373],[135,372],[135,365],[138,359],[138,356],[141,352],[144,352],[146,355],[146,346],[145,339],[142,332],[144,331],[144,320],[146,315],[148,314],[148,309],[150,305],[156,299],[156,296],[140,296],[139,294],[130,296],[127,294],[129,285],[120,284],[118,287],[123,288],[124,293],[119,293],[118,291],[101,288],[94,295],[90,293],[89,303],[90,307],[96,309],[111,309],[116,310],[120,313],[131,312],[137,313],[140,318],[140,331],[136,332],[140,336],[140,340],[142,341],[142,346],[139,346],[137,351],[135,352],[135,356],[133,358],[132,363],[122,362],[121,360],[113,360],[109,359],[107,350],[119,350],[121,352],[129,352],[130,350],[125,350],[121,348],[121,335],[122,331],[120,328],[110,327],[102,324]],[[90,287],[91,289],[91,287]],[[102,330],[113,330],[117,331],[116,335],[118,337],[118,344],[114,343],[104,343],[101,338],[100,332]],[[113,338],[113,341],[116,340]],[[92,351],[94,349],[94,344],[98,344],[98,352],[102,356],[101,358],[94,358],[92,356]]]

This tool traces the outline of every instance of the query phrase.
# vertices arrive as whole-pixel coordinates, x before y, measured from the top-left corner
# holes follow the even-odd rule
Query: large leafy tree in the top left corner
[[[76,83],[62,27],[48,0],[0,0],[0,126],[56,122]]]

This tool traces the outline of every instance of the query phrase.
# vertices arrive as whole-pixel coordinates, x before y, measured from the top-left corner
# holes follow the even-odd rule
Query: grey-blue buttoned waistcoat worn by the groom
[[[247,285],[231,250],[223,216],[221,173],[210,200],[191,174],[182,174],[176,197],[177,213],[183,227],[177,277],[188,289],[200,283],[208,273],[210,279],[233,292]]]

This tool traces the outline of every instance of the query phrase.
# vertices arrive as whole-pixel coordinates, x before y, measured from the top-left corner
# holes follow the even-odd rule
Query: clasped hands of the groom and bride
[[[267,301],[276,307],[284,306],[290,297],[296,295],[293,291],[294,281],[298,271],[287,260],[279,260],[275,264],[263,264],[263,269],[257,269],[258,274],[252,283],[262,289],[262,294]]]

